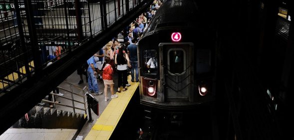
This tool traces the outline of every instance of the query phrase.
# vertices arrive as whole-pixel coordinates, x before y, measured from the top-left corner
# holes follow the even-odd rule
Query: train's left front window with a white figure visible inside
[[[144,73],[157,74],[158,65],[157,65],[156,50],[144,50],[143,54],[144,54],[143,62],[145,64],[143,69]]]

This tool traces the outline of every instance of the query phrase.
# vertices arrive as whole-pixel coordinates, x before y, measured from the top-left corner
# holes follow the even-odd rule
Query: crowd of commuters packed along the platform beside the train
[[[108,87],[110,87],[111,98],[117,98],[118,95],[114,93],[113,89],[114,82],[116,82],[113,81],[114,74],[118,76],[117,92],[126,91],[130,86],[127,81],[129,72],[131,82],[139,82],[137,42],[161,3],[161,0],[154,0],[146,12],[139,15],[136,20],[122,30],[120,35],[124,36],[123,42],[119,42],[117,37],[113,37],[111,41],[89,58],[87,61],[87,82],[90,93],[94,93],[94,95],[103,94],[98,89],[99,82],[97,82],[97,79],[100,79],[100,83],[104,83],[105,101],[109,99],[107,96]]]

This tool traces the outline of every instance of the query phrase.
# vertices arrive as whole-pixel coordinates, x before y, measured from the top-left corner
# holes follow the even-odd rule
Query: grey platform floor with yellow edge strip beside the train
[[[114,91],[116,92],[116,90],[117,90],[117,74],[114,74],[114,76],[113,76],[113,79],[114,79]],[[83,75],[83,81],[84,81],[84,83],[82,83],[82,84],[80,84],[80,85],[78,85],[78,82],[79,82],[79,80],[80,80],[80,77],[79,77],[79,75],[77,75],[77,72],[75,71],[75,72],[73,72],[69,77],[67,77],[67,79],[65,80],[65,81],[67,81],[68,83],[71,83],[71,84],[73,84],[73,85],[75,85],[75,86],[77,86],[77,87],[79,87],[79,88],[84,88],[85,86],[87,86],[88,87],[88,83],[86,83],[86,79],[85,79],[85,75]],[[79,134],[78,134],[78,140],[84,140],[86,137],[87,137],[87,135],[89,134],[89,132],[92,130],[94,130],[94,131],[101,131],[102,130],[102,128],[99,130],[99,128],[101,127],[101,125],[105,125],[104,123],[101,123],[101,122],[97,122],[97,120],[99,119],[99,117],[101,117],[102,116],[102,113],[103,113],[103,111],[105,110],[105,108],[109,105],[109,104],[112,104],[111,105],[111,107],[113,108],[113,106],[114,106],[114,104],[117,104],[118,102],[120,102],[120,104],[121,103],[124,103],[124,104],[126,104],[127,105],[127,103],[128,103],[128,101],[129,101],[129,99],[130,99],[130,96],[132,96],[133,94],[125,94],[125,95],[123,95],[123,93],[127,93],[127,92],[130,92],[130,91],[132,91],[132,89],[134,89],[135,87],[137,87],[139,84],[137,83],[137,82],[131,82],[131,76],[129,75],[128,76],[128,82],[129,82],[129,84],[131,84],[131,86],[128,88],[128,90],[127,91],[125,91],[125,92],[122,92],[122,93],[118,93],[118,95],[119,95],[119,97],[118,98],[116,98],[116,99],[111,99],[111,93],[110,93],[110,89],[108,88],[108,94],[107,94],[107,96],[109,97],[109,100],[107,101],[107,102],[105,102],[104,101],[104,97],[105,97],[105,93],[104,93],[104,84],[103,83],[100,83],[99,81],[98,81],[98,87],[99,87],[99,92],[103,92],[103,94],[102,95],[98,95],[98,96],[93,96],[94,98],[96,98],[97,100],[98,100],[98,102],[99,102],[99,116],[97,116],[96,114],[94,114],[93,112],[91,112],[91,115],[92,115],[92,120],[93,120],[93,122],[91,122],[91,123],[89,123],[88,121],[85,123],[85,125],[83,126],[83,128],[82,128],[82,130],[79,132]],[[60,85],[59,85],[59,87],[62,87],[62,88],[65,88],[65,89],[69,89],[69,85],[68,84],[66,84],[65,82],[63,82],[63,83],[61,83]],[[59,90],[59,92],[60,93],[62,93],[62,94],[64,94],[64,96],[65,97],[70,97],[71,96],[71,94],[69,93],[69,92],[66,92],[66,91],[63,91],[63,90]],[[77,90],[77,89],[74,89],[73,88],[73,92],[76,92],[76,93],[81,93],[81,91],[80,90]],[[133,91],[134,92],[134,91]],[[132,93],[133,93],[132,92]],[[131,92],[130,92],[131,93]],[[120,100],[120,99],[122,99],[122,100]],[[63,99],[63,98],[60,98],[60,97],[56,97],[56,100],[57,101],[60,101],[61,102],[61,104],[63,103],[63,104],[71,104],[70,103],[70,101],[68,101],[68,100],[66,100],[66,99]],[[75,99],[76,100],[76,99]],[[82,98],[79,98],[79,99],[77,99],[78,101],[82,101],[83,99]],[[115,103],[114,102],[111,102],[112,100],[117,100]],[[125,106],[126,106],[125,105]],[[80,104],[80,105],[75,105],[76,107],[79,107],[79,108],[83,108],[83,105],[82,104]],[[49,105],[46,103],[46,105],[44,106],[45,108],[46,107],[49,107]],[[111,108],[110,107],[110,108]],[[59,105],[55,105],[55,108],[57,109],[57,110],[63,110],[63,111],[70,111],[70,112],[73,112],[73,109],[71,109],[71,108],[68,108],[68,107],[64,107],[64,106],[59,106]],[[108,111],[107,111],[107,113],[104,113],[105,115],[107,115],[107,114],[109,114],[109,110],[110,110],[110,108],[108,109]],[[119,121],[119,119],[120,119],[120,116],[121,116],[121,113],[120,112],[117,112],[118,110],[116,110],[116,113],[114,113],[114,114],[116,114],[116,115],[114,115],[114,116],[116,116],[116,119],[112,119],[113,121]],[[124,111],[124,108],[120,108],[120,111]],[[85,113],[84,111],[81,111],[81,110],[75,110],[75,112],[76,113]],[[103,114],[103,116],[104,116],[104,120],[106,119],[107,120],[107,118],[105,118],[105,115]],[[115,123],[113,123],[113,121],[112,121],[112,124],[110,125],[110,126],[112,126],[112,127],[115,127],[116,125],[115,125]],[[102,121],[103,122],[103,121]],[[117,122],[116,122],[116,124],[117,124]],[[100,125],[100,126],[99,126]],[[109,126],[109,125],[108,125]],[[104,128],[105,129],[105,128]],[[76,133],[76,131],[77,130],[75,130],[75,132],[73,133],[73,135],[72,134],[69,134],[69,135],[71,135],[72,137],[71,137],[71,139],[65,139],[64,137],[65,137],[65,135],[64,135],[64,129],[62,130],[62,129],[56,129],[56,130],[54,130],[54,131],[56,131],[56,133],[55,133],[55,135],[54,135],[54,138],[56,138],[56,139],[51,139],[51,138],[53,138],[53,136],[51,136],[51,135],[49,135],[49,134],[52,134],[52,132],[51,131],[53,131],[53,130],[48,130],[49,132],[48,132],[48,134],[46,133],[44,133],[44,134],[39,134],[39,133],[35,133],[35,131],[45,131],[46,129],[40,129],[40,130],[37,130],[37,129],[24,129],[24,130],[26,130],[26,132],[25,133],[17,133],[17,136],[19,136],[19,137],[17,137],[17,139],[14,139],[14,138],[16,138],[16,137],[12,137],[12,136],[9,136],[9,139],[6,139],[6,138],[8,138],[7,136],[8,135],[11,135],[11,133],[10,132],[13,132],[13,131],[15,131],[15,129],[8,129],[5,133],[3,133],[1,136],[0,136],[0,140],[61,140],[61,139],[58,139],[59,137],[60,138],[63,138],[62,140],[71,140],[72,138],[73,138],[73,135]],[[21,131],[20,131],[21,132]],[[109,132],[109,133],[108,133]],[[102,140],[108,140],[109,139],[109,137],[110,137],[110,135],[111,135],[111,133],[113,132],[113,130],[111,129],[110,131],[108,130],[108,132],[106,132],[108,135],[104,135],[105,136],[105,138],[103,138]],[[102,134],[102,133],[101,133]],[[101,135],[100,134],[100,135]],[[35,136],[36,135],[36,136]],[[42,137],[42,139],[32,139],[32,138],[38,138],[39,137],[39,135],[41,135],[41,136],[43,136]],[[88,136],[88,138],[87,138],[87,140],[90,140],[89,138],[92,138],[92,136],[95,136],[95,138],[97,138],[97,135],[99,135],[98,133],[93,133],[93,132],[91,132],[91,134],[90,134],[90,136]],[[3,137],[3,136],[5,136],[5,137]],[[27,137],[26,136],[30,136],[28,139],[26,139]],[[59,137],[58,137],[59,136]],[[11,139],[10,139],[10,137],[11,137]],[[5,139],[3,139],[3,138],[5,138]],[[18,139],[19,138],[19,139]],[[82,139],[81,139],[82,138]],[[93,140],[95,140],[95,139],[93,139]]]

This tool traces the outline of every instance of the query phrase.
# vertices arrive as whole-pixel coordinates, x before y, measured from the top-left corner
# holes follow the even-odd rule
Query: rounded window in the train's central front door
[[[185,73],[185,51],[182,48],[173,48],[168,51],[168,72],[171,75]]]

